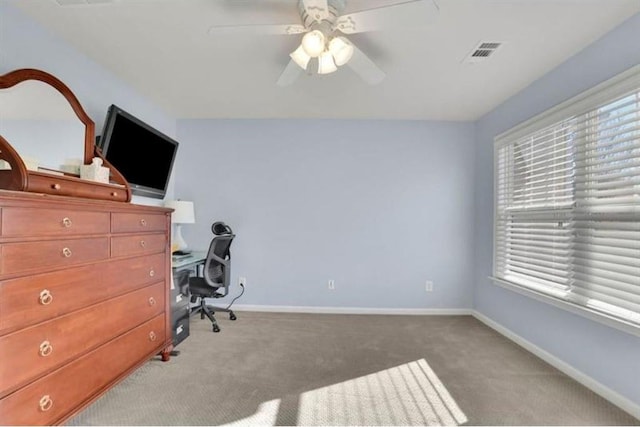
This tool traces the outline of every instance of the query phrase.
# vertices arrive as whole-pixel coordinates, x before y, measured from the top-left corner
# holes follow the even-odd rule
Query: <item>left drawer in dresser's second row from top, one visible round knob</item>
[[[5,243],[0,251],[2,274],[63,268],[109,258],[109,238]]]

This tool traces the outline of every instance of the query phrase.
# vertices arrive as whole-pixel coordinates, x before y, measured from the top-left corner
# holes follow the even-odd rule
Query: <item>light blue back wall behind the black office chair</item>
[[[206,249],[214,220],[233,227],[232,280],[247,277],[244,304],[469,308],[473,131],[418,121],[179,120],[176,196],[195,201],[197,221],[183,234]]]

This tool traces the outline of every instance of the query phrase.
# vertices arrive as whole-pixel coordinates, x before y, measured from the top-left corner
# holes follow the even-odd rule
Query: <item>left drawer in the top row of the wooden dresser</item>
[[[2,236],[76,236],[109,233],[109,212],[3,208]]]

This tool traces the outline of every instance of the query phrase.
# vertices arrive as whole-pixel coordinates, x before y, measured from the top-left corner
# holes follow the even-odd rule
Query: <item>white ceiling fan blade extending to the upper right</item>
[[[345,34],[380,31],[391,28],[415,27],[432,23],[438,16],[434,0],[408,0],[338,17],[334,30]]]

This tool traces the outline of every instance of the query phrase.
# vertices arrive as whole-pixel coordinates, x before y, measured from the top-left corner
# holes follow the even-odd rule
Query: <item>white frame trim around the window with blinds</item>
[[[519,294],[528,296],[530,298],[551,304],[555,307],[563,310],[578,314],[580,316],[595,320],[599,323],[607,326],[622,330],[635,336],[640,336],[640,324],[632,321],[625,321],[624,319],[607,315],[601,311],[591,309],[585,305],[572,302],[570,299],[563,299],[560,297],[554,297],[543,291],[538,291],[534,288],[519,285],[507,281],[503,278],[496,276],[497,266],[497,248],[498,248],[498,186],[499,186],[499,169],[498,158],[499,150],[506,144],[513,144],[515,141],[531,136],[538,131],[558,124],[559,122],[569,120],[572,117],[584,115],[597,109],[600,105],[614,99],[617,96],[621,96],[630,91],[637,91],[640,88],[640,65],[636,65],[623,73],[616,75],[615,77],[588,89],[581,94],[574,96],[567,101],[564,101],[525,122],[516,125],[515,127],[496,135],[494,138],[494,164],[493,164],[493,180],[494,180],[494,195],[493,195],[493,252],[492,252],[492,276],[489,278],[498,286],[505,289],[515,291]]]

